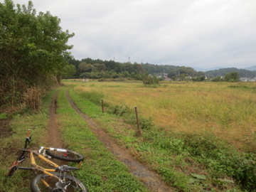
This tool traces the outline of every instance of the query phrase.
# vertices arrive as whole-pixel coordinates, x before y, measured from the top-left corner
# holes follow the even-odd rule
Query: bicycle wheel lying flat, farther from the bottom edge
[[[83,159],[85,159],[84,156],[82,156],[82,154],[79,154],[78,152],[69,149],[50,148],[50,150],[46,150],[46,154],[55,159],[60,159],[63,161],[80,162]]]

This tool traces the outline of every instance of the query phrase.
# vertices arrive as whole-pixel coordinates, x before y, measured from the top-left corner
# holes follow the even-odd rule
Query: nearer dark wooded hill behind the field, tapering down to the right
[[[142,80],[144,74],[168,76],[173,78],[186,73],[193,77],[205,75],[203,72],[197,72],[193,68],[175,65],[154,65],[149,63],[119,63],[114,60],[93,60],[85,58],[82,60],[69,60],[73,69],[70,73],[63,75],[63,78],[132,78]],[[168,75],[164,75],[168,74]]]

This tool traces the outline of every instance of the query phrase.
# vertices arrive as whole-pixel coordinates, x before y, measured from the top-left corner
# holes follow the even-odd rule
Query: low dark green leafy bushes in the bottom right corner
[[[213,177],[227,175],[234,178],[245,190],[255,190],[255,154],[240,154],[214,136],[187,135],[184,143],[193,158],[212,170]]]

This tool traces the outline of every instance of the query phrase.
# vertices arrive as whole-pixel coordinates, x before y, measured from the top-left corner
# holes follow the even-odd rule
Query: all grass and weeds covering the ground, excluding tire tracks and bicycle
[[[58,89],[61,139],[63,147],[85,156],[75,176],[89,191],[148,189],[92,134],[69,105],[66,90],[82,112],[176,191],[255,191],[255,83],[165,82],[157,87],[137,82],[64,83],[68,86]],[[47,144],[53,94],[43,98],[36,114],[16,112],[11,132],[1,136],[1,190],[30,190],[33,172],[18,170],[13,177],[6,174],[16,151],[23,147],[26,129],[33,132],[31,147]],[[134,106],[142,129],[139,137]],[[9,118],[6,113],[0,117]]]

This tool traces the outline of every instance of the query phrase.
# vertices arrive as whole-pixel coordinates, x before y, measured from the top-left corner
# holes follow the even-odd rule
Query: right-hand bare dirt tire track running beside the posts
[[[139,178],[139,180],[142,181],[151,191],[174,191],[171,190],[171,188],[169,188],[166,183],[164,183],[164,181],[160,178],[158,174],[156,174],[154,171],[147,169],[139,161],[135,160],[131,155],[128,154],[126,149],[123,149],[121,146],[116,144],[112,140],[112,138],[107,135],[107,133],[102,131],[102,129],[100,129],[100,127],[98,127],[97,124],[95,124],[95,122],[90,119],[90,117],[82,113],[71,100],[70,95],[68,94],[68,90],[65,92],[65,95],[68,98],[68,102],[70,102],[70,105],[73,107],[75,112],[78,112],[78,114],[80,114],[80,117],[85,119],[90,129],[97,136],[97,138],[103,144],[105,144],[107,149],[109,149],[112,154],[114,154],[117,159],[119,159],[119,161],[122,161],[122,163],[124,163],[129,168],[132,174],[137,176],[137,178]]]

